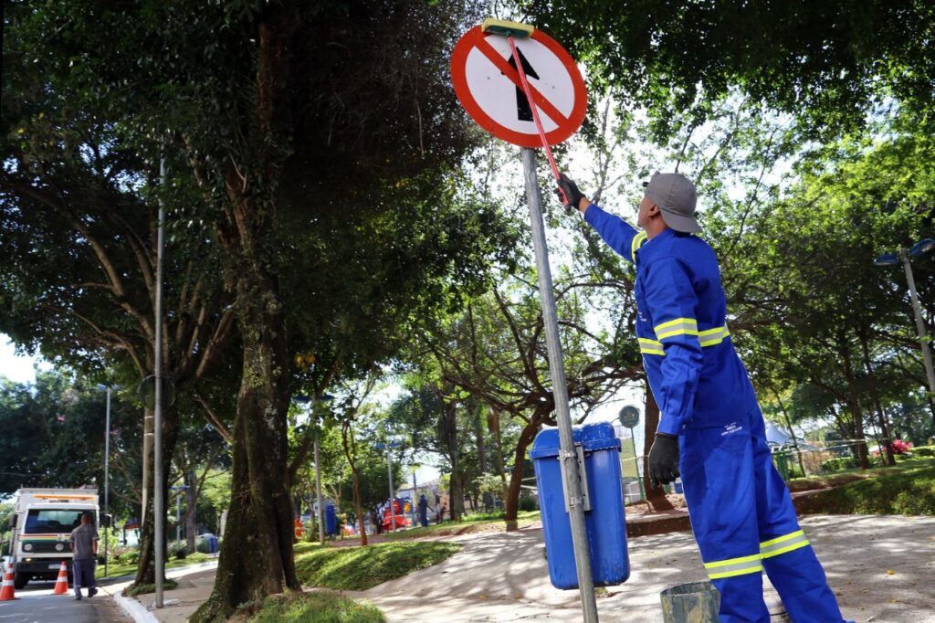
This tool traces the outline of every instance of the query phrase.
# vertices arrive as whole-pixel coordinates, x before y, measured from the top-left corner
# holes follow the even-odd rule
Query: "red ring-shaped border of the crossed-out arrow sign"
[[[470,92],[467,75],[468,54],[481,45],[489,47],[489,44],[483,41],[487,36],[499,35],[488,35],[482,32],[481,26],[475,26],[468,30],[468,32],[458,40],[457,44],[455,44],[454,50],[452,51],[452,82],[454,85],[454,94],[458,96],[458,100],[461,102],[461,105],[465,107],[465,110],[468,111],[471,118],[496,138],[502,138],[520,147],[541,147],[542,140],[539,138],[539,133],[535,131],[532,134],[517,132],[516,130],[506,127],[502,123],[498,123],[481,108],[481,105],[478,104],[474,95]],[[550,115],[550,118],[558,127],[551,132],[546,132],[545,138],[550,145],[556,145],[568,139],[568,137],[577,132],[578,128],[581,127],[584,121],[584,113],[587,111],[587,91],[584,88],[584,80],[581,72],[578,71],[578,65],[575,63],[574,59],[571,58],[571,55],[568,54],[554,38],[539,30],[534,30],[530,38],[541,43],[555,55],[565,67],[565,70],[568,71],[568,77],[571,79],[571,84],[574,88],[574,105],[568,117],[564,117],[563,115],[563,119],[559,121]],[[504,65],[507,64],[506,59],[501,60]],[[493,60],[491,63],[496,65]],[[522,87],[520,88],[522,89]],[[536,97],[535,93],[533,96],[536,102],[535,105],[539,108],[539,113],[541,114],[542,107],[539,106],[539,104],[548,105],[549,102],[547,100],[542,102]]]

